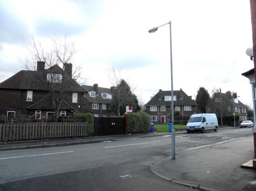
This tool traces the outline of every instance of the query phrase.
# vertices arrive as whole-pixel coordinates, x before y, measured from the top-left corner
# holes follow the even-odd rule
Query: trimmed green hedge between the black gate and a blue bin
[[[127,133],[148,133],[151,128],[151,117],[149,114],[127,113]]]

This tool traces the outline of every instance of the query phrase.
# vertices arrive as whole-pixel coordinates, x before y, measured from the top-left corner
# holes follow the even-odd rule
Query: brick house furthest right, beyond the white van
[[[208,113],[220,115],[220,108],[222,106],[222,115],[233,115],[234,104],[235,113],[240,116],[240,121],[247,120],[247,107],[237,99],[237,93],[231,95],[230,91],[226,93],[215,93],[211,101],[206,105],[206,109]]]

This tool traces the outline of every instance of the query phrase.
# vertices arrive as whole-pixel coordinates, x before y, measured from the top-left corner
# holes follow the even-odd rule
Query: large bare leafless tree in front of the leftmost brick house
[[[22,68],[30,71],[33,77],[29,83],[37,86],[39,89],[47,91],[52,98],[52,105],[55,112],[54,121],[58,121],[58,113],[63,99],[68,97],[70,90],[77,83],[85,83],[86,78],[81,77],[82,67],[72,63],[76,49],[75,42],[67,43],[65,37],[51,37],[52,46],[50,49],[43,48],[41,42],[38,43],[33,38],[29,56],[25,58],[18,57]],[[42,67],[37,62],[40,61],[45,65]],[[69,71],[64,71],[64,67],[69,65]],[[42,67],[42,68],[41,68]],[[34,81],[36,79],[36,81]],[[29,80],[29,79],[28,79]]]

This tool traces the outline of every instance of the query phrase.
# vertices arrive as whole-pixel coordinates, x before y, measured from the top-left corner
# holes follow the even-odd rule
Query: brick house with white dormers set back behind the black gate
[[[83,89],[88,91],[85,96],[84,112],[91,110],[95,117],[107,117],[111,113],[109,110],[109,103],[112,100],[111,87],[101,88],[98,84],[93,86],[83,85]]]

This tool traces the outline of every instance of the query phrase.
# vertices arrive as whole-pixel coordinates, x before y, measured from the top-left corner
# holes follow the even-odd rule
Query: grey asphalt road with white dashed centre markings
[[[176,135],[176,154],[251,137],[251,129]],[[0,152],[0,190],[190,190],[157,177],[171,136]]]

